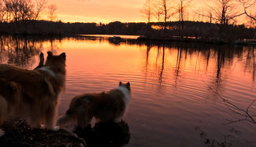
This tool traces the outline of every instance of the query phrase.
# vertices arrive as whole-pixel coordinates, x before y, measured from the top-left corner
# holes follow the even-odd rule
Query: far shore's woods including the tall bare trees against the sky
[[[11,35],[141,35],[139,39],[193,42],[254,42],[256,0],[209,0],[192,9],[192,0],[146,0],[147,22],[63,23],[46,0],[1,0],[0,33]],[[42,12],[46,18],[42,19]],[[192,12],[192,13],[191,13]],[[191,13],[191,14],[190,14]],[[189,19],[191,18],[191,19]]]

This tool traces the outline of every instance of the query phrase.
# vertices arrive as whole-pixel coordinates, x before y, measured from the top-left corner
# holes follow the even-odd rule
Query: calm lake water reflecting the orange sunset
[[[60,97],[59,114],[76,95],[130,82],[132,100],[124,117],[131,133],[127,146],[205,146],[207,139],[233,146],[255,145],[256,124],[224,124],[227,119],[244,117],[221,99],[226,97],[243,110],[254,100],[254,47],[83,37],[0,39],[0,63],[28,69],[39,63],[41,51],[66,53],[66,89]],[[256,103],[249,112],[256,114]]]

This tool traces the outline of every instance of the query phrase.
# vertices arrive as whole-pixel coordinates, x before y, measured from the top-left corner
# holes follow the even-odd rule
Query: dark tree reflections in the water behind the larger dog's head
[[[20,67],[33,68],[39,62],[39,53],[43,44],[50,44],[50,51],[58,50],[63,38],[43,36],[0,36],[0,62],[15,64]]]

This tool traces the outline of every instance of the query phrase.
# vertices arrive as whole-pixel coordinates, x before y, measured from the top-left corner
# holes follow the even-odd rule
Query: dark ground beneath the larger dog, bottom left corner
[[[46,130],[29,127],[24,119],[9,120],[2,125],[6,134],[0,146],[86,146],[82,138],[67,130]]]

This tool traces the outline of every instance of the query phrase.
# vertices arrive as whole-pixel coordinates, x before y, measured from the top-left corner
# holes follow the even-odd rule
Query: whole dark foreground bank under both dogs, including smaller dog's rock
[[[0,146],[99,146],[117,147],[128,144],[128,124],[96,123],[95,127],[77,129],[76,134],[67,130],[45,130],[29,127],[24,119],[13,119],[2,125],[6,134]]]

